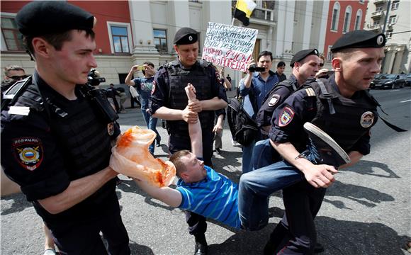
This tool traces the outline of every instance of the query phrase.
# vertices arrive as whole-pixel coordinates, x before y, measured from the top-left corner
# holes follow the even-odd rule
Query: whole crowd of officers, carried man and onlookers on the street
[[[120,134],[117,118],[107,113],[109,101],[91,98],[79,85],[97,66],[95,23],[91,13],[65,1],[27,4],[16,24],[35,72],[27,77],[21,67],[4,70],[2,96],[11,86],[18,93],[1,106],[1,166],[43,219],[45,255],[56,254],[55,246],[60,254],[130,254],[116,196],[118,174],[108,166]],[[238,184],[219,174],[212,160],[213,142],[215,152],[222,149],[232,79],[224,68],[198,60],[196,30],[177,30],[173,42],[176,60],[157,71],[152,62],[134,65],[125,84],[137,93],[132,97],[138,98],[147,128],[157,134],[152,154],[162,140],[157,120],[165,120],[179,181],[175,189],[135,182],[184,210],[194,254],[208,254],[207,218],[251,231],[266,227],[269,196],[279,190],[286,213],[262,252],[322,251],[314,220],[327,187],[339,169],[370,153],[378,103],[367,89],[380,72],[385,36],[365,30],[342,35],[331,48],[332,72],[320,70],[325,61],[317,49],[295,53],[288,77],[285,62],[271,70],[269,51],[249,60],[248,67],[264,71],[248,68],[238,87],[259,132],[242,147]],[[124,89],[110,84],[106,96],[117,113],[125,111]]]

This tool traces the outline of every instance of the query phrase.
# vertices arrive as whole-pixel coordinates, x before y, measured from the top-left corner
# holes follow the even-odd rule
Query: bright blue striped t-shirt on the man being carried
[[[176,189],[182,196],[179,208],[240,229],[237,183],[208,166],[204,168],[207,176],[203,181],[185,183],[180,179],[177,183]]]

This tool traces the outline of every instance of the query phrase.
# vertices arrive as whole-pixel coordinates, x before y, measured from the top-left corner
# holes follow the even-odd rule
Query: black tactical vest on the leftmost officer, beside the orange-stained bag
[[[77,95],[76,106],[66,110],[60,108],[53,96],[42,92],[42,98],[31,84],[17,100],[17,103],[43,111],[47,115],[50,130],[64,158],[70,180],[94,174],[105,168],[111,155],[108,125],[97,117],[98,113],[81,93]],[[43,99],[46,103],[43,103]],[[48,107],[48,113],[45,107]]]

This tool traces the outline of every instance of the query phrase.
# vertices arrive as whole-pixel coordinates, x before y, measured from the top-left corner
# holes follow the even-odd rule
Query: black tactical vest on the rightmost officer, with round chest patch
[[[313,88],[317,96],[317,115],[311,122],[327,132],[345,152],[350,152],[376,124],[378,103],[366,91],[357,91],[354,98],[345,98],[325,79],[303,87]]]

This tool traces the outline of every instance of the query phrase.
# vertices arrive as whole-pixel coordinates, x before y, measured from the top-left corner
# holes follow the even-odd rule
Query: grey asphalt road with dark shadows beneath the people
[[[411,89],[371,91],[383,105],[388,118],[410,130]],[[128,109],[120,115],[121,129],[144,126],[140,109]],[[156,156],[167,157],[167,132],[158,123],[162,147]],[[316,219],[318,241],[325,255],[334,254],[409,254],[404,249],[411,237],[410,206],[410,131],[395,132],[381,120],[373,128],[371,154],[359,164],[337,174],[327,191]],[[215,155],[215,169],[238,181],[242,152],[230,142],[227,125],[223,135],[223,153]],[[123,183],[117,194],[123,222],[130,236],[133,254],[193,254],[194,240],[188,234],[184,214],[168,208],[120,176]],[[206,237],[210,254],[261,254],[271,230],[283,215],[281,193],[270,199],[272,217],[269,226],[259,232],[230,229],[208,223]],[[24,196],[1,198],[1,254],[43,254],[43,230],[40,217]]]

